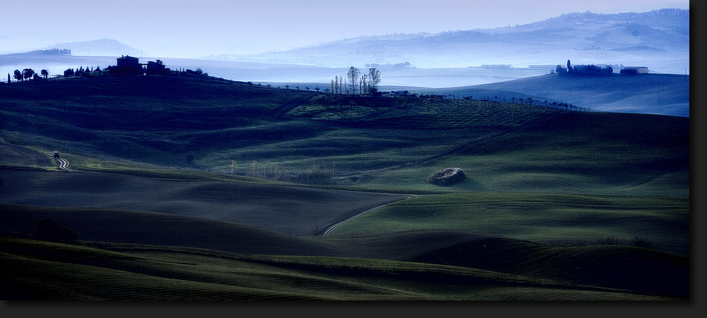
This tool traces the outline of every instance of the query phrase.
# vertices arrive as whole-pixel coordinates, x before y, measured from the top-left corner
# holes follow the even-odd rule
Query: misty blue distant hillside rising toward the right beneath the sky
[[[419,68],[575,63],[648,66],[656,73],[689,72],[689,10],[645,13],[567,13],[528,25],[436,34],[342,39],[250,56],[207,56],[228,61],[363,67],[409,62]]]

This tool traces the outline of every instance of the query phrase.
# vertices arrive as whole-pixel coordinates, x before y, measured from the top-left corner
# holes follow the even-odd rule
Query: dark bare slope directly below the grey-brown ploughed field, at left
[[[0,204],[2,230],[33,233],[40,219],[71,229],[78,240],[203,247],[274,255],[341,255],[306,237],[189,216],[124,209],[52,208]]]

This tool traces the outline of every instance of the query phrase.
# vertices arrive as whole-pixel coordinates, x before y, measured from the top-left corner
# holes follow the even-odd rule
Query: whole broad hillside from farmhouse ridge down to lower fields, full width
[[[8,85],[2,87],[8,90],[2,105],[10,120],[0,129],[6,139],[18,140],[14,143],[45,149],[59,143],[67,149],[59,150],[69,154],[221,173],[230,173],[236,161],[235,173],[241,175],[252,173],[252,162],[258,161],[260,176],[320,169],[347,176],[334,182],[368,188],[438,190],[426,177],[460,166],[469,179],[450,189],[689,195],[687,118],[563,114],[539,106],[448,99],[332,98],[239,83],[187,80],[177,85],[173,80],[144,78],[143,87],[115,83],[134,95],[98,81],[93,90],[74,87],[76,92],[61,98],[46,98],[42,94],[49,92],[42,93],[42,87],[61,84],[52,90],[69,90],[71,85]],[[88,118],[76,114],[81,109],[100,111]],[[199,124],[187,125],[185,119]],[[59,123],[67,127],[52,129]],[[516,131],[529,123],[538,125]],[[66,135],[79,130],[86,138]],[[483,142],[494,135],[503,136]],[[400,167],[409,169],[361,173]]]

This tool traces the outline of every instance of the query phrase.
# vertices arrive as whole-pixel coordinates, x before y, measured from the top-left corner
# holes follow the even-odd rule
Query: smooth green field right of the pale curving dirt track
[[[689,255],[689,200],[460,192],[411,198],[339,226],[332,234],[421,229],[473,231],[559,245],[636,236],[655,248]]]

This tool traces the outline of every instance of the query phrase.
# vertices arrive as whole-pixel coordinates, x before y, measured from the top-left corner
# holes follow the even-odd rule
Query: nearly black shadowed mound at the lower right
[[[409,260],[689,298],[689,260],[642,247],[548,247],[522,240],[486,238]]]

